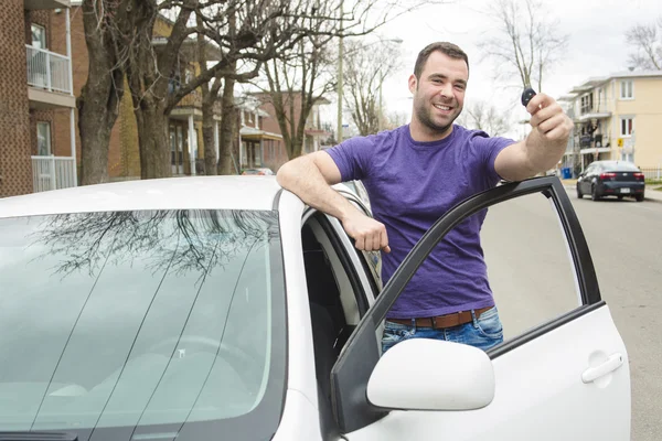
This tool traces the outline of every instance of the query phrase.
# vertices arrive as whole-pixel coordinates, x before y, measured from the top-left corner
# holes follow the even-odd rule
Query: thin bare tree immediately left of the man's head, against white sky
[[[384,128],[382,85],[389,73],[402,67],[395,41],[365,44],[349,42],[345,55],[344,101],[361,136]]]

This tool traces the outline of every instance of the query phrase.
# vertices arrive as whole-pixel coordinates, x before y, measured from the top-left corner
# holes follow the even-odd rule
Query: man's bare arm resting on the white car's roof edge
[[[306,204],[337,217],[348,235],[354,238],[357,249],[391,251],[386,227],[365,216],[331,189],[331,185],[341,182],[342,176],[329,153],[320,151],[296,158],[278,170],[276,179],[280,186],[295,193]]]

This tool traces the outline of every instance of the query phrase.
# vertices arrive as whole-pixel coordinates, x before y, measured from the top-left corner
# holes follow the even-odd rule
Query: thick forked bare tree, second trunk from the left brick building
[[[173,94],[168,94],[168,78],[173,72],[177,56],[190,34],[199,32],[196,26],[189,28],[188,22],[193,11],[209,8],[215,1],[205,3],[200,0],[183,0],[162,2],[157,7],[157,0],[145,0],[135,10],[135,32],[126,39],[131,55],[127,67],[127,78],[134,109],[138,123],[138,138],[140,143],[141,176],[162,178],[170,175],[169,150],[167,143],[167,117],[173,107],[192,90],[209,83],[213,77],[227,77],[235,75],[231,66],[238,58],[252,58],[260,62],[276,54],[277,49],[287,43],[296,29],[289,17],[291,8],[285,0],[236,0],[218,2],[222,11],[231,8],[241,21],[241,26],[235,34],[226,32],[227,18],[233,17],[218,13],[215,17],[203,17],[203,22],[212,25],[205,26],[207,37],[218,44],[224,56],[212,67],[204,69],[192,78],[185,86]],[[154,10],[173,10],[177,19],[171,33],[161,51],[151,44]],[[196,12],[200,13],[200,12]],[[284,20],[277,20],[284,19]],[[285,32],[282,32],[285,31]]]

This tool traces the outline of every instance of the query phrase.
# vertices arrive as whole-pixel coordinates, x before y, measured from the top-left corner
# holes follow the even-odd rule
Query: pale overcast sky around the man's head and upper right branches
[[[488,12],[493,2],[456,0],[449,4],[428,6],[396,19],[378,31],[382,39],[403,40],[399,46],[406,66],[394,72],[384,83],[387,112],[410,116],[407,78],[418,52],[435,41],[450,41],[469,56],[471,75],[465,107],[476,100],[485,100],[499,109],[514,108],[510,111],[513,120],[526,117],[522,106],[513,106],[513,101],[519,103],[522,93],[517,78],[514,78],[516,87],[504,80],[495,82],[493,62],[483,60],[477,46],[496,32],[494,18]],[[627,30],[636,24],[652,24],[662,17],[660,0],[542,0],[542,3],[544,11],[541,13],[549,21],[558,20],[558,32],[568,35],[565,54],[543,80],[542,92],[554,98],[567,94],[589,77],[627,71],[631,52],[626,42]],[[325,107],[323,119],[335,123],[335,104]],[[516,136],[516,132],[510,135]]]

